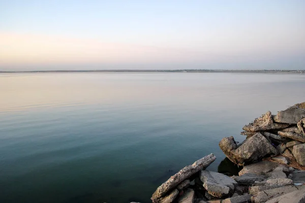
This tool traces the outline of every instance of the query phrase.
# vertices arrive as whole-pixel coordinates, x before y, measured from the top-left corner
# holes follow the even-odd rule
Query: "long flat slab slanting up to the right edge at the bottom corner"
[[[251,197],[252,202],[260,203],[265,202],[269,199],[281,196],[283,194],[287,194],[289,192],[293,192],[295,190],[303,189],[302,186],[294,186],[294,185],[287,185],[284,187],[273,188],[269,190],[263,190],[258,192],[256,195]]]

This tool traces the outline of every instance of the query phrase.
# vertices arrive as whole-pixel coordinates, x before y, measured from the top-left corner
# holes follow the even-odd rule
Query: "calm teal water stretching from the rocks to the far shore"
[[[0,202],[149,202],[182,167],[267,110],[305,101],[305,75],[0,74]]]

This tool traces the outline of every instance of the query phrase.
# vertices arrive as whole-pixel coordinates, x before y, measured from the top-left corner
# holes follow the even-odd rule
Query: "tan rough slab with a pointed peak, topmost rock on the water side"
[[[244,131],[249,132],[259,132],[259,131],[267,131],[267,130],[278,130],[287,128],[288,124],[279,124],[274,123],[271,112],[267,111],[264,115],[259,118],[256,118],[253,123],[246,125],[242,128]]]

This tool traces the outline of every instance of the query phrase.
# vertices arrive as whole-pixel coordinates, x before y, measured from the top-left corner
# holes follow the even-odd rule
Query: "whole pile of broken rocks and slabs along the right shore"
[[[305,102],[268,111],[242,129],[242,143],[219,143],[238,176],[205,170],[216,159],[209,154],[158,187],[153,203],[305,203]]]

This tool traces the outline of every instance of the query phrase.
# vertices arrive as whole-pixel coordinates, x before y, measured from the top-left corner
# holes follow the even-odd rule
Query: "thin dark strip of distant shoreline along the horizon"
[[[29,70],[29,71],[0,71],[0,73],[66,73],[66,72],[229,72],[229,73],[305,73],[305,70]]]

